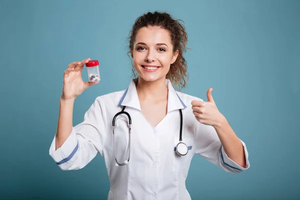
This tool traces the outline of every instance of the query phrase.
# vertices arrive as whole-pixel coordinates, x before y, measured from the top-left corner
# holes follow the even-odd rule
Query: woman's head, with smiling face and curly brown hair
[[[130,31],[128,52],[133,59],[134,77],[138,74],[154,80],[155,75],[157,78],[165,76],[178,90],[186,85],[188,76],[183,52],[186,51],[187,34],[180,22],[183,21],[173,19],[166,12],[148,12],[135,20]],[[140,67],[157,73],[141,75]]]

